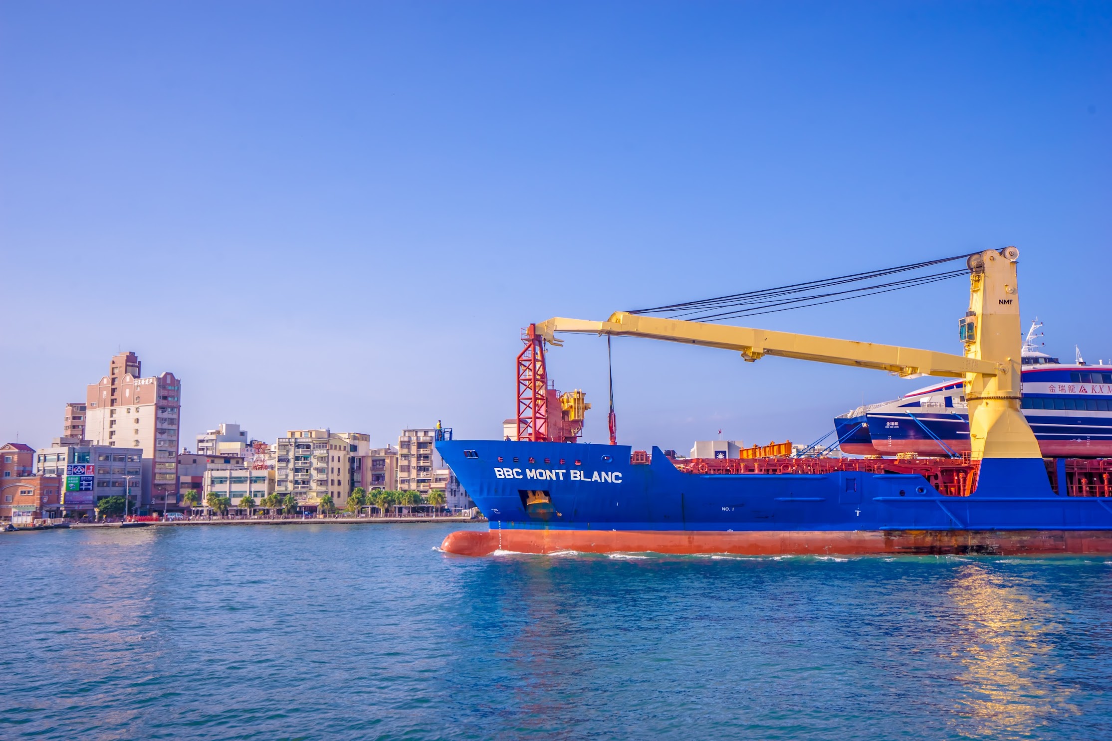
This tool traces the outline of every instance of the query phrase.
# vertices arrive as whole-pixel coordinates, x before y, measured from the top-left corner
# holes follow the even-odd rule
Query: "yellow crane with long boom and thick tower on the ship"
[[[555,347],[563,344],[557,332],[644,337],[733,350],[748,362],[773,356],[873,368],[901,377],[962,378],[973,459],[1042,458],[1020,410],[1023,334],[1016,287],[1019,257],[1014,247],[969,257],[970,308],[959,326],[964,356],[622,311],[606,321],[555,317],[536,324],[536,332]]]

